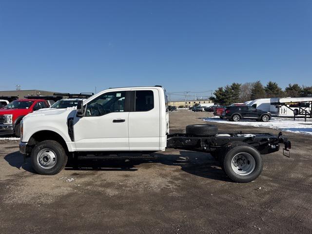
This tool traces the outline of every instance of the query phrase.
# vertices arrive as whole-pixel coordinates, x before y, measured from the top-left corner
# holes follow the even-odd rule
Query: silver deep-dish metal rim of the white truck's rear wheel
[[[240,176],[247,176],[255,169],[254,157],[248,153],[239,153],[232,158],[231,163],[234,173]]]

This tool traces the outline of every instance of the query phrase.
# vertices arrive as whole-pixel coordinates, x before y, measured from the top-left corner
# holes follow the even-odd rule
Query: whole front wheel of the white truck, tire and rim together
[[[55,140],[45,140],[31,152],[31,164],[41,175],[58,174],[66,165],[67,155],[64,148]]]

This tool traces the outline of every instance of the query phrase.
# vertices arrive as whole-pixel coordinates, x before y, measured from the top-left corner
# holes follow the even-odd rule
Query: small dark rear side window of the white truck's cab
[[[150,111],[154,108],[154,93],[152,90],[136,91],[135,111]]]

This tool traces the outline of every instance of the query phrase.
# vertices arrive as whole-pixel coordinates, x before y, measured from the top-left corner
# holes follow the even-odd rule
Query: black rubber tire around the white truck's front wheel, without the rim
[[[46,169],[40,166],[39,159],[37,158],[40,151],[47,149],[52,151],[56,156],[56,163],[52,168]],[[34,170],[41,175],[55,175],[58,174],[67,163],[67,155],[64,148],[59,142],[55,140],[45,140],[40,142],[34,147],[31,152],[31,164]]]

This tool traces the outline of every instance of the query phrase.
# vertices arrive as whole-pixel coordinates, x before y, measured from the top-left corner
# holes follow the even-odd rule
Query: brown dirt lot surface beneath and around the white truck
[[[171,132],[209,115],[170,113]],[[291,158],[264,155],[261,176],[247,184],[229,180],[209,154],[179,150],[150,161],[83,160],[80,170],[40,176],[29,158],[23,162],[17,141],[1,141],[0,234],[312,233],[312,137],[285,135]]]

